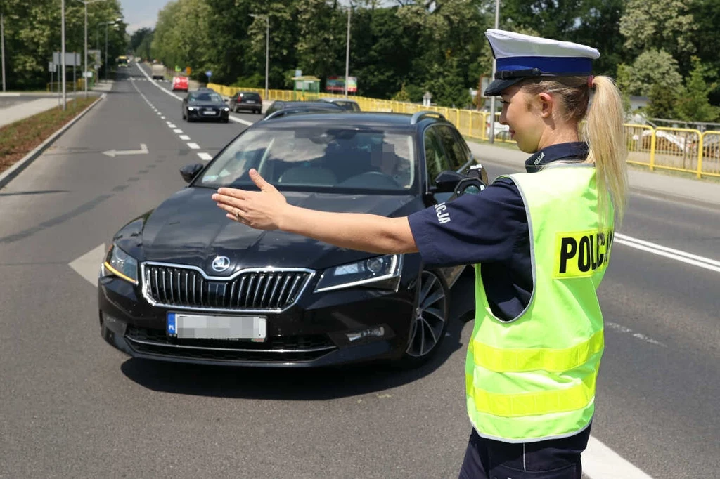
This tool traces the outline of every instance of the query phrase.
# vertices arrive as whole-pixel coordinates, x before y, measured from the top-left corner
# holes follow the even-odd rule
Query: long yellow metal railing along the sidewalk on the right
[[[263,88],[240,88],[236,86],[208,83],[225,96],[233,96],[238,91],[254,91],[264,96]],[[292,90],[269,90],[267,100],[309,101],[318,98],[343,98],[334,93],[303,93]],[[422,106],[405,101],[392,101],[351,96],[363,111],[392,111],[395,113],[415,113],[422,110],[437,111],[455,125],[464,136],[488,140],[490,137],[490,113],[467,109],[448,108],[446,106]],[[508,128],[498,122],[500,114],[495,114],[495,141],[510,140]],[[649,170],[674,170],[693,173],[698,178],[713,176],[720,178],[720,132],[701,132],[688,128],[652,128],[644,124],[625,124],[628,163],[647,166]]]

